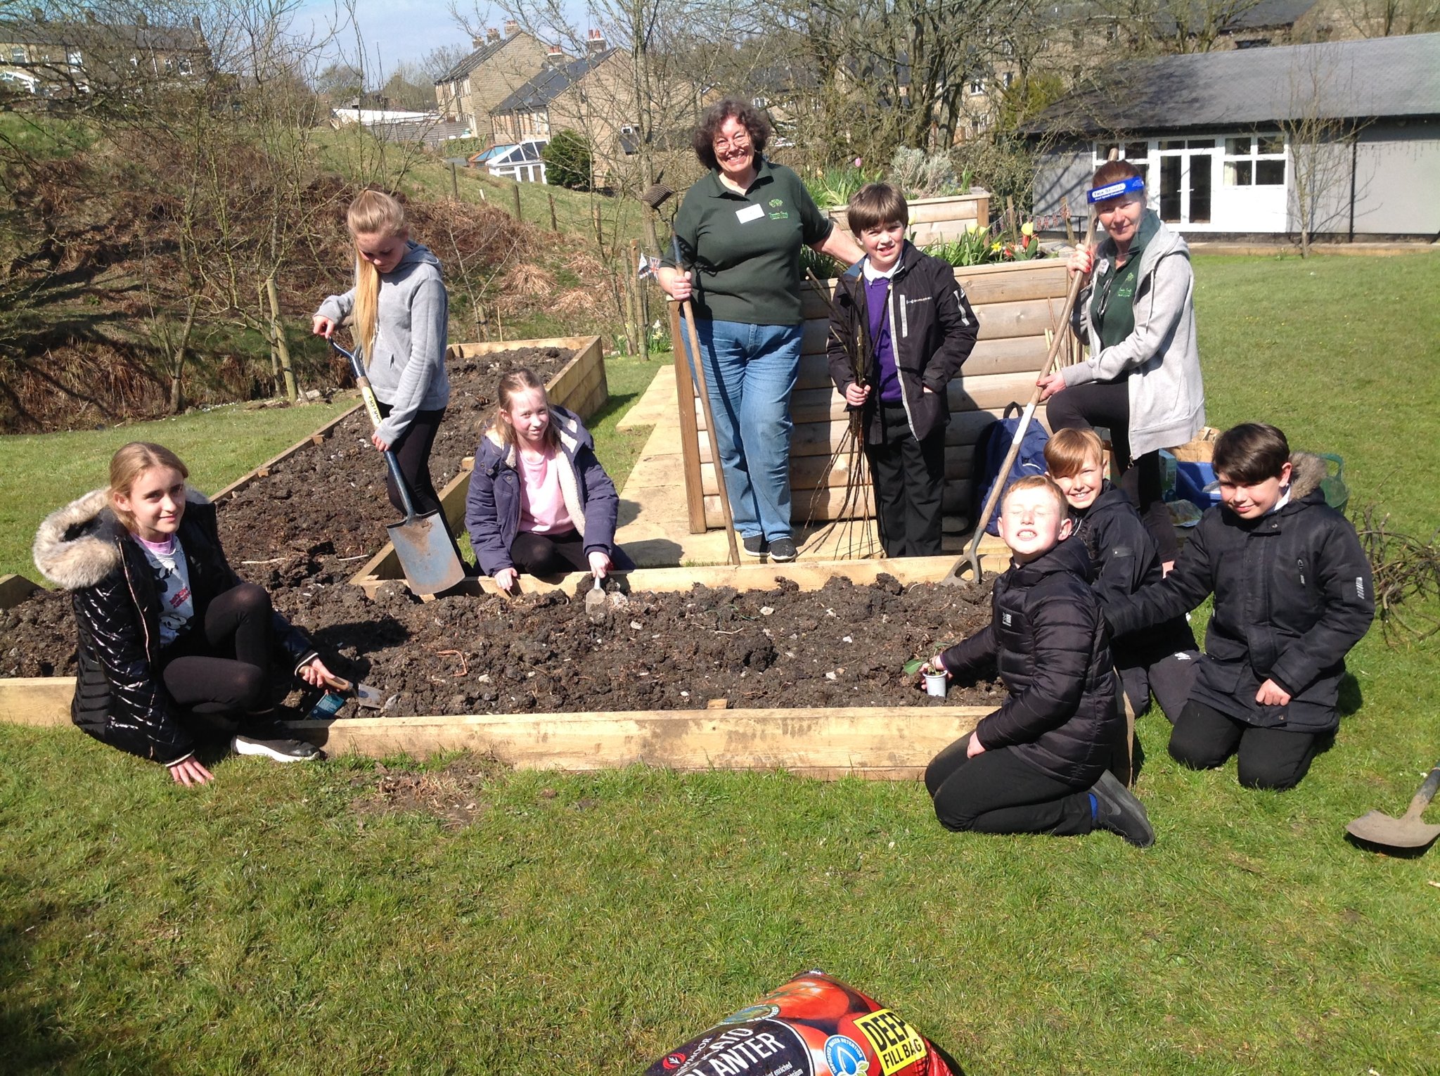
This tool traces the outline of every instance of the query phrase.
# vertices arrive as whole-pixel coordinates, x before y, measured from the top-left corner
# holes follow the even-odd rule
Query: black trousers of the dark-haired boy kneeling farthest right
[[[1171,730],[1171,758],[1191,769],[1214,769],[1237,756],[1246,788],[1287,789],[1300,784],[1320,736],[1247,725],[1191,699]]]

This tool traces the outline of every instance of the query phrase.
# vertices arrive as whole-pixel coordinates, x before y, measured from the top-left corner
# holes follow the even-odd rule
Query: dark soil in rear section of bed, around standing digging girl
[[[557,347],[523,347],[448,362],[451,402],[431,451],[435,488],[475,454],[503,375],[527,366],[549,382],[572,356]],[[324,444],[305,445],[225,498],[220,539],[230,565],[271,591],[348,579],[389,542],[386,524],[400,520],[384,477],[384,459],[370,444],[370,418],[357,411]]]

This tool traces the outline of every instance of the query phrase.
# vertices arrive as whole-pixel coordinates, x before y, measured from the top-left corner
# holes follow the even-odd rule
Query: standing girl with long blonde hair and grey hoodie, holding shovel
[[[311,327],[328,340],[350,321],[383,418],[370,439],[380,451],[395,449],[415,511],[436,511],[431,448],[449,403],[449,298],[441,264],[410,239],[405,207],[380,190],[361,190],[346,223],[354,241],[356,284],[321,302]],[[403,511],[400,491],[392,478],[386,481],[390,504]]]

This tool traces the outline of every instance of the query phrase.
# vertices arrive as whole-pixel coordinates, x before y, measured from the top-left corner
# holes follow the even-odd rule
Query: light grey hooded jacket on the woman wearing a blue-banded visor
[[[1153,210],[1145,212],[1155,218]],[[1149,223],[1155,233],[1140,251],[1135,331],[1113,347],[1097,350],[1100,337],[1090,321],[1090,288],[1086,288],[1076,301],[1076,333],[1090,343],[1090,357],[1060,372],[1066,387],[1126,377],[1132,457],[1184,445],[1205,425],[1189,246],[1158,218]],[[1115,242],[1104,239],[1094,255],[1093,279],[1115,255]]]

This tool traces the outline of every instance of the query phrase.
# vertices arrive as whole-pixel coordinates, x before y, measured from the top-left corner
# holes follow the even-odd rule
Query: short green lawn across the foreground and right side
[[[1440,395],[1440,261],[1197,268],[1211,421],[1274,418],[1345,455],[1356,501],[1440,523],[1440,447],[1410,435]],[[913,784],[644,769],[500,775],[451,792],[480,815],[449,830],[374,814],[367,762],[230,759],[186,792],[0,729],[6,1062],[634,1073],[821,967],[971,1076],[1430,1072],[1436,853],[1342,831],[1430,765],[1434,647],[1372,632],[1349,667],[1364,701],[1287,794],[1176,768],[1143,717],[1146,853],[946,834]]]

